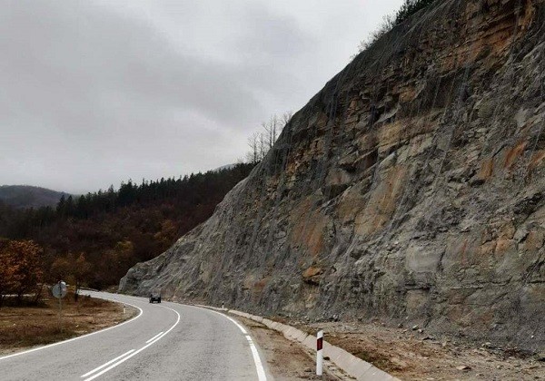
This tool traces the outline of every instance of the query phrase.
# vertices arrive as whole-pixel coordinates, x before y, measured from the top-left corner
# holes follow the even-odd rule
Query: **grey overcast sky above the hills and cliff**
[[[402,0],[5,0],[0,185],[74,193],[236,162]]]

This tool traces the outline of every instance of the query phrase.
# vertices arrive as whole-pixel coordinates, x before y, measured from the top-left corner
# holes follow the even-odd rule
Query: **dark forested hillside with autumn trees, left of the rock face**
[[[54,208],[17,210],[0,203],[0,295],[20,298],[60,278],[76,288],[115,286],[135,263],[153,259],[207,220],[254,165],[129,180],[118,190],[63,196]]]

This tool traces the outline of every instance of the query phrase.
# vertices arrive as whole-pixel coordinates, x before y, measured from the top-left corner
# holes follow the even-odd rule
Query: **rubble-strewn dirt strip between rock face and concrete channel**
[[[472,343],[464,337],[434,336],[419,327],[379,323],[313,323],[282,319],[313,333],[403,380],[545,380],[543,354],[517,347]]]

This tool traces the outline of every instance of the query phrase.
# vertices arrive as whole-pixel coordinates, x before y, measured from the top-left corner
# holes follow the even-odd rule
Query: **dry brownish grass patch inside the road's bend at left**
[[[7,303],[8,305],[10,303]],[[45,345],[84,335],[134,317],[134,308],[103,299],[74,294],[63,298],[63,318],[59,321],[58,299],[43,299],[37,306],[0,308],[0,354],[26,347]]]

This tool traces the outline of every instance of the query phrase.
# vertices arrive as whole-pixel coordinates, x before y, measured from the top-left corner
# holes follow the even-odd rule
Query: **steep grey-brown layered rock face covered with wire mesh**
[[[438,1],[360,54],[120,290],[545,344],[545,0]]]

